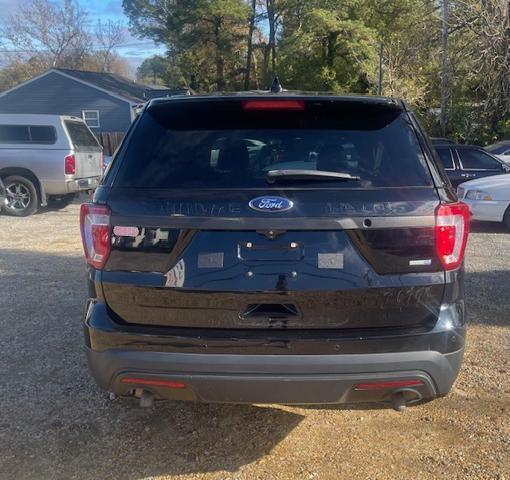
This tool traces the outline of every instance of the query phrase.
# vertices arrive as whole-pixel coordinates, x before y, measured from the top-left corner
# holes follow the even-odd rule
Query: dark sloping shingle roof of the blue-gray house
[[[73,77],[78,81],[95,86],[101,90],[106,90],[113,95],[125,98],[130,102],[146,102],[155,97],[164,97],[168,95],[183,95],[188,93],[186,88],[171,89],[167,87],[156,87],[136,83],[128,78],[115,75],[113,73],[88,72],[81,70],[69,70],[66,68],[53,68],[55,71]]]

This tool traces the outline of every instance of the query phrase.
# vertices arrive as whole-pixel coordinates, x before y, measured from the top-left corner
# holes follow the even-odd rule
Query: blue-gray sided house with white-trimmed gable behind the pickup
[[[52,68],[0,93],[0,113],[73,115],[93,132],[126,132],[135,108],[155,97],[189,95],[133,82],[112,73]]]

